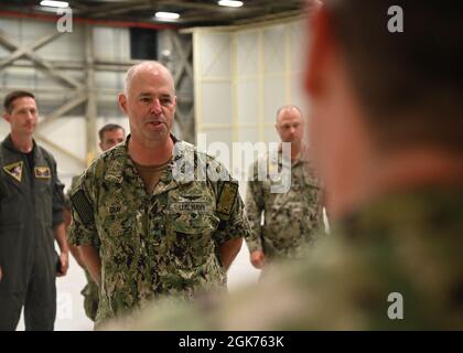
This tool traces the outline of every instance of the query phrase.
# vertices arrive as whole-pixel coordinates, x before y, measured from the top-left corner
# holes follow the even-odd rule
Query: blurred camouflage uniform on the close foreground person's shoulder
[[[463,189],[389,194],[337,222],[298,266],[228,298],[158,303],[131,330],[463,329]],[[388,301],[402,296],[403,319]],[[392,315],[394,318],[394,315]]]

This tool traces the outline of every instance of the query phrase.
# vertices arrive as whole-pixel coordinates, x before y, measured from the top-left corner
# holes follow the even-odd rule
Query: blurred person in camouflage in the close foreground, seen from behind
[[[461,4],[326,0],[311,19],[309,132],[332,236],[215,309],[155,308],[128,328],[463,329]]]

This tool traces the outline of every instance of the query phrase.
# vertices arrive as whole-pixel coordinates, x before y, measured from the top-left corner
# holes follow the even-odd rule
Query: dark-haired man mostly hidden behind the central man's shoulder
[[[123,142],[126,132],[123,131],[123,128],[117,124],[107,124],[98,131],[99,136],[99,148],[101,151],[107,151],[110,148],[115,147],[118,143]],[[77,181],[79,179],[79,175],[75,175],[71,182],[71,186],[66,194],[66,207],[64,211],[65,214],[65,225],[66,225],[66,234],[68,234],[68,228],[71,226],[71,200],[69,194],[71,190],[73,190],[77,185]],[[90,274],[85,267],[84,260],[80,256],[80,252],[77,246],[73,244],[68,244],[69,252],[76,259],[77,264],[84,269],[85,277],[87,279],[87,285],[85,285],[84,289],[80,291],[80,293],[84,296],[84,309],[85,314],[88,319],[91,321],[95,321],[96,313],[98,310],[98,286],[97,284],[91,279]]]

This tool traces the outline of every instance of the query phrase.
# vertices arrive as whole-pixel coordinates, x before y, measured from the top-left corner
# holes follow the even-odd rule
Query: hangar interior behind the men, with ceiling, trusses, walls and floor
[[[68,0],[67,10],[60,10],[40,0],[1,0],[0,99],[13,89],[35,94],[40,125],[34,137],[56,158],[66,188],[99,153],[103,125],[116,122],[129,131],[117,96],[125,72],[143,60],[159,60],[173,73],[179,138],[204,142],[212,153],[217,152],[213,142],[225,142],[232,151],[233,142],[278,141],[277,109],[284,104],[309,108],[301,82],[310,40],[304,2],[249,0],[229,8],[207,0]],[[180,18],[160,20],[157,11]],[[8,132],[2,119],[2,138]],[[238,179],[247,172],[246,163],[232,165],[224,153],[219,159]],[[244,246],[229,271],[229,287],[257,275]],[[78,295],[84,280],[75,263],[57,280],[57,330],[91,329]]]

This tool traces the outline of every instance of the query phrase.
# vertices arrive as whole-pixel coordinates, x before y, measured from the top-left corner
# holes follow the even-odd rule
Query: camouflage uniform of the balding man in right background
[[[289,163],[290,188],[278,191],[284,176],[272,175],[279,175]],[[266,180],[259,181],[259,169],[266,165]],[[324,229],[322,188],[315,171],[304,158],[292,162],[283,160],[280,149],[278,161],[272,161],[267,153],[251,165],[251,173],[246,193],[246,213],[252,231],[246,238],[249,252],[263,250],[268,260],[300,257],[303,245],[313,243]]]

